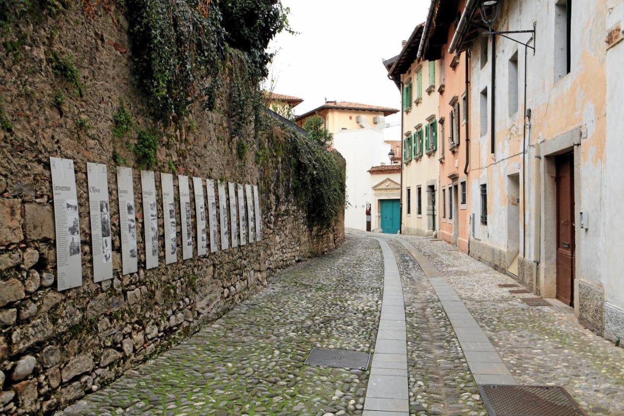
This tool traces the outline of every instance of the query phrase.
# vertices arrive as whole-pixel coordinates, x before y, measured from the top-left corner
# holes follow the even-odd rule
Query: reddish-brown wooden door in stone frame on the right
[[[557,156],[557,299],[574,305],[573,154]]]

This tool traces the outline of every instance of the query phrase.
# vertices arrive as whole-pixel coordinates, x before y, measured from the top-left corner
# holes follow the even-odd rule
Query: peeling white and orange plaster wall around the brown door
[[[621,13],[620,13],[621,14]],[[615,192],[621,189],[621,185],[608,184],[607,178],[618,178],[621,176],[622,168],[614,167],[612,174],[605,172],[605,134],[607,134],[607,124],[605,122],[606,90],[602,86],[607,83],[605,72],[605,16],[607,15],[607,4],[605,1],[583,1],[573,2],[572,8],[572,68],[569,74],[555,81],[555,1],[530,2],[521,1],[504,2],[500,10],[499,19],[495,29],[505,30],[525,30],[532,29],[533,22],[537,22],[535,55],[529,50],[527,55],[527,108],[531,109],[532,117],[530,129],[527,129],[526,142],[529,144],[527,152],[522,157],[522,130],[525,109],[524,99],[524,46],[509,41],[502,36],[498,36],[496,47],[496,108],[495,108],[495,129],[496,142],[494,155],[490,154],[489,131],[483,136],[480,135],[480,91],[487,87],[487,116],[488,125],[490,122],[490,106],[492,91],[490,87],[490,65],[492,55],[483,69],[480,67],[478,59],[473,59],[470,65],[472,71],[472,111],[470,122],[472,128],[472,170],[470,176],[470,190],[472,193],[471,212],[478,219],[480,215],[479,184],[488,184],[488,221],[487,226],[477,222],[474,237],[480,240],[481,244],[487,244],[496,250],[505,252],[507,250],[507,233],[513,224],[508,224],[507,209],[509,207],[509,190],[507,189],[507,177],[510,174],[518,173],[520,177],[520,222],[524,220],[524,233],[520,233],[520,256],[523,260],[537,260],[540,264],[540,276],[543,279],[545,272],[552,273],[554,264],[550,264],[552,259],[541,258],[545,247],[545,232],[553,232],[556,228],[550,227],[545,222],[556,221],[553,215],[542,213],[550,211],[543,207],[545,184],[550,187],[548,181],[553,181],[548,177],[544,169],[544,159],[536,157],[547,157],[548,154],[556,154],[560,151],[575,151],[575,223],[576,227],[576,279],[592,285],[598,292],[603,292],[607,287],[617,284],[607,284],[612,273],[607,272],[607,228],[612,227],[610,217],[605,215],[605,201],[609,194],[618,194],[621,198],[622,192]],[[515,39],[527,41],[530,34],[514,34]],[[616,46],[622,47],[622,46]],[[508,62],[509,58],[518,52],[518,111],[509,115],[508,99]],[[480,52],[479,42],[475,42],[472,47],[472,56],[478,57]],[[613,56],[615,50],[610,52]],[[613,62],[613,79],[622,79],[622,60]],[[615,61],[615,59],[614,59]],[[617,67],[617,66],[620,67]],[[621,87],[620,87],[621,88]],[[621,91],[620,91],[621,92]],[[621,94],[613,92],[615,96]],[[614,96],[614,97],[615,97]],[[614,98],[615,101],[615,98]],[[622,117],[620,116],[620,119]],[[614,121],[614,131],[622,131],[622,121]],[[617,124],[620,123],[620,124]],[[489,129],[489,126],[488,126]],[[571,146],[567,149],[558,148],[564,141],[565,135],[583,134],[583,138],[575,137]],[[585,136],[587,132],[587,137]],[[562,138],[563,137],[563,138]],[[608,142],[608,141],[607,141]],[[612,154],[622,154],[621,140],[613,140]],[[617,143],[616,143],[617,142]],[[572,143],[576,143],[572,144]],[[616,148],[616,147],[620,148]],[[620,152],[618,152],[620,151]],[[550,153],[549,153],[550,152]],[[555,152],[555,153],[553,153]],[[524,173],[523,166],[524,163]],[[620,175],[618,175],[620,174]],[[524,175],[524,177],[523,177]],[[523,184],[525,189],[522,189]],[[611,191],[607,190],[610,189]],[[524,195],[524,197],[523,197]],[[523,201],[524,200],[524,209]],[[620,205],[613,201],[613,217],[617,216],[617,207]],[[590,213],[590,228],[580,229],[578,226],[578,212]],[[522,224],[520,224],[522,226]],[[556,224],[555,224],[556,225]],[[618,234],[622,234],[621,232]],[[526,237],[526,242],[524,242]],[[615,241],[612,247],[621,247],[621,242]],[[542,254],[540,254],[542,253]],[[620,255],[620,257],[622,257]],[[509,256],[508,256],[509,258]],[[617,260],[616,260],[617,261]],[[526,269],[526,261],[524,262]],[[615,265],[614,269],[622,270],[622,265]],[[522,280],[522,277],[520,277]],[[547,292],[551,292],[553,282],[548,282]],[[544,286],[542,286],[544,287]],[[620,287],[622,285],[620,284]],[[536,288],[537,290],[537,288]],[[614,289],[615,290],[615,289]],[[583,299],[578,299],[576,312],[579,313],[578,303]],[[615,292],[614,295],[620,299],[623,294]],[[617,294],[616,294],[617,293]],[[543,294],[548,295],[548,293]],[[610,295],[607,295],[609,297]],[[621,305],[621,303],[620,303]]]

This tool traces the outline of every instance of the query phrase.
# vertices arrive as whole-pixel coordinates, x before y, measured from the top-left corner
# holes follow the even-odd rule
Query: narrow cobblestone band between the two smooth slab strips
[[[412,415],[487,415],[464,353],[436,292],[414,257],[388,238],[403,285]]]

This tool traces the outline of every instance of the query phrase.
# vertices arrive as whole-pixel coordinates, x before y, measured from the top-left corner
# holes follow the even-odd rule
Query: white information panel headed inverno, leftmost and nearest
[[[58,290],[66,290],[82,285],[80,221],[74,161],[51,157],[50,167],[56,228],[57,287]]]

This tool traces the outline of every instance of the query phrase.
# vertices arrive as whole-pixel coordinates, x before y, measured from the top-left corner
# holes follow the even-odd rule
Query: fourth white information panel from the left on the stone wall
[[[145,269],[158,267],[158,204],[153,171],[141,171],[143,227],[145,229]]]

